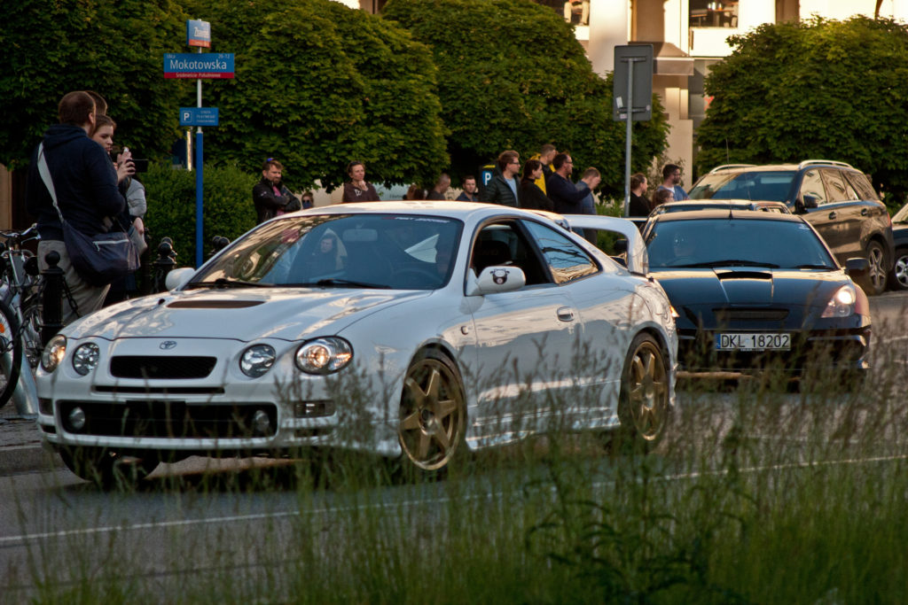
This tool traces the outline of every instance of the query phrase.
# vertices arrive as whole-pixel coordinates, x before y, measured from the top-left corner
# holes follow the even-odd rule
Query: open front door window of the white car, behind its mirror
[[[527,237],[513,220],[484,226],[473,242],[469,266],[477,276],[482,269],[498,265],[521,268],[528,286],[551,283]]]

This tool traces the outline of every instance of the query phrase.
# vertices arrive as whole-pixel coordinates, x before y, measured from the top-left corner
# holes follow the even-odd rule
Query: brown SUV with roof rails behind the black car
[[[870,271],[861,286],[868,294],[886,288],[893,267],[893,223],[864,172],[842,161],[800,164],[728,164],[694,183],[691,200],[783,201],[819,231],[839,264],[863,257]]]

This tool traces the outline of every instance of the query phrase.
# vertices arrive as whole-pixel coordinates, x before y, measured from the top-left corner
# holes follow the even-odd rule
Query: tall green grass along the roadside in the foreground
[[[143,489],[177,509],[232,493],[295,505],[218,532],[162,530],[166,556],[153,565],[162,551],[126,530],[35,545],[0,600],[904,602],[904,361],[880,347],[859,385],[818,373],[795,392],[773,380],[682,390],[649,454],[552,422],[548,434],[462,452],[439,481],[401,481],[393,465],[343,452],[153,479]],[[335,396],[351,405],[344,386]]]

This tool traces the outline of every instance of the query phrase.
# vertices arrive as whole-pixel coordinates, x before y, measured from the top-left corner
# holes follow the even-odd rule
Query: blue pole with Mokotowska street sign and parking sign
[[[212,45],[212,25],[207,21],[190,19],[186,21],[186,45],[198,47],[198,53],[164,53],[165,78],[195,78],[196,107],[180,108],[180,125],[195,126],[195,266],[202,266],[204,247],[202,245],[202,126],[218,125],[218,108],[202,107],[202,79],[220,80],[233,77],[232,53],[205,53],[202,48]],[[186,132],[188,137],[192,128]],[[187,153],[186,164],[192,170],[190,154]]]

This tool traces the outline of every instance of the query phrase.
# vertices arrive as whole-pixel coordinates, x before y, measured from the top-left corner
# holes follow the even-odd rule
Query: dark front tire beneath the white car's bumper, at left
[[[160,463],[160,458],[153,453],[141,458],[127,457],[104,447],[63,446],[59,452],[66,468],[103,489],[133,488]]]

